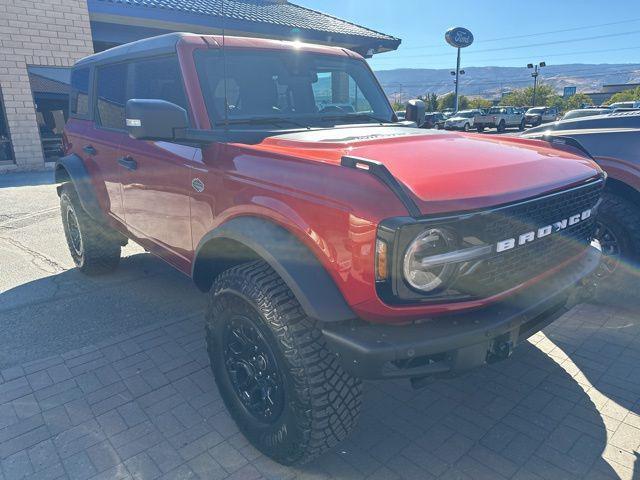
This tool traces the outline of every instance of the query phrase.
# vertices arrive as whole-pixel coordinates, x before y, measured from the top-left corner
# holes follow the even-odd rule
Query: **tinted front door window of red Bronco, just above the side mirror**
[[[129,72],[128,98],[166,100],[187,109],[176,56],[134,61]]]

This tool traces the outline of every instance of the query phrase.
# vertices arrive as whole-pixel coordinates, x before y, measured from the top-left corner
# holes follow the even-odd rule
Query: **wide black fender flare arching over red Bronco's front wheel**
[[[225,255],[225,252],[213,247],[206,248],[208,244],[212,245],[211,242],[216,241],[222,245],[224,240],[240,243],[266,261],[291,289],[309,317],[323,322],[356,318],[316,256],[294,234],[272,221],[259,217],[233,218],[200,240],[191,273],[201,290],[206,290],[215,276],[204,266],[207,260],[222,265],[242,262],[240,259],[229,263],[229,256]],[[241,254],[238,256],[242,257]],[[203,275],[207,274],[211,278],[203,278]]]

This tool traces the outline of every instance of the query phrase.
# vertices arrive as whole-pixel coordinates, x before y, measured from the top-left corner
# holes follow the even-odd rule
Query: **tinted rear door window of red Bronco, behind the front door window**
[[[105,65],[96,72],[97,121],[106,128],[124,129],[127,65]]]

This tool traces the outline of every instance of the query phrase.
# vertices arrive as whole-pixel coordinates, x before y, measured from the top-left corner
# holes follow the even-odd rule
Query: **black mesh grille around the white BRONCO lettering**
[[[602,186],[603,182],[599,181],[490,212],[483,216],[482,240],[495,245],[508,238],[517,239],[528,231],[537,231],[540,227],[593,209],[600,198]],[[564,230],[512,250],[494,253],[476,265],[471,273],[462,275],[455,288],[474,297],[486,297],[509,290],[584,251],[594,229],[595,212],[588,219]]]

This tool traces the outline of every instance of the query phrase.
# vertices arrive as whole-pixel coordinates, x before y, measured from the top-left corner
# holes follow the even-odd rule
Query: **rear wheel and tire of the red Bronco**
[[[107,230],[84,211],[70,183],[62,186],[60,212],[69,253],[76,267],[87,275],[115,270],[120,263],[119,234]]]

